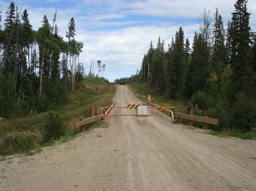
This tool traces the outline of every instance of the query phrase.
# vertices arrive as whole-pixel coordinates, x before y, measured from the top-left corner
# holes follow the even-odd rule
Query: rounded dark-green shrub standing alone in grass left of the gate
[[[57,140],[64,136],[67,130],[67,124],[62,121],[57,112],[49,112],[42,127],[42,136],[45,140]]]

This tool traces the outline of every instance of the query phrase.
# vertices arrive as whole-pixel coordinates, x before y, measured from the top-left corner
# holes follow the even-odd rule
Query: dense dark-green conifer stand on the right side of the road
[[[167,51],[160,37],[156,47],[151,41],[139,77],[167,98],[196,104],[222,128],[250,131],[256,128],[256,36],[247,0],[234,6],[226,30],[218,9],[213,19],[204,9],[192,46],[181,27]]]

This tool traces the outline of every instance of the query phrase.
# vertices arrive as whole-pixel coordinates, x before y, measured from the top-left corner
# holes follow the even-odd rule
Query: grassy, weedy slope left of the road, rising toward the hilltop
[[[107,101],[115,96],[116,86],[109,86],[102,79],[85,78],[76,85],[75,92],[71,94],[69,101],[62,109],[55,110],[65,124],[65,135],[58,139],[65,142],[75,137],[80,128],[74,128],[74,124],[80,117],[90,117],[90,105],[107,106]],[[30,114],[28,116],[10,117],[0,122],[0,154],[12,155],[24,153],[27,155],[41,151],[44,146],[56,144],[56,139],[45,140],[42,136],[42,127],[46,123],[49,113],[52,111]],[[90,130],[87,125],[85,130]]]

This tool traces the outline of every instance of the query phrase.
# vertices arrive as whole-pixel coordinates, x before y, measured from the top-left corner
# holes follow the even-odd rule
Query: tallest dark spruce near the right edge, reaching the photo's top
[[[237,0],[232,13],[231,66],[234,74],[235,93],[251,94],[254,90],[252,67],[250,14],[247,12],[247,0]]]

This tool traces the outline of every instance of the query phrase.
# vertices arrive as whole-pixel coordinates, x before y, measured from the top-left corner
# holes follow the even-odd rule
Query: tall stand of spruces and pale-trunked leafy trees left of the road
[[[36,31],[26,9],[20,13],[13,2],[8,7],[0,28],[0,116],[59,107],[83,78],[83,43],[75,40],[75,21],[67,24],[64,41],[56,18],[57,12],[50,24],[44,15]]]

